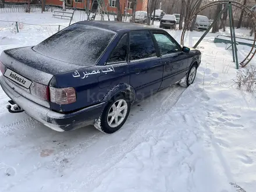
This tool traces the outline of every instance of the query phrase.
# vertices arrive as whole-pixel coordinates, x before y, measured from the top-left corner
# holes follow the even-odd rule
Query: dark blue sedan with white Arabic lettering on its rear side
[[[33,47],[5,50],[0,61],[10,113],[25,111],[56,131],[94,125],[114,133],[134,101],[193,83],[201,52],[162,29],[88,21]]]

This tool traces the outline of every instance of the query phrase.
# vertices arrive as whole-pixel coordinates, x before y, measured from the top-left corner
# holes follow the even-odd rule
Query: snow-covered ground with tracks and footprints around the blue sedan
[[[51,13],[5,13],[0,20],[69,23]],[[57,29],[23,26],[13,33],[0,22],[0,30],[2,52],[37,44]],[[180,41],[181,31],[168,31]],[[187,33],[186,44],[201,35]],[[214,44],[215,35],[198,47],[202,64],[193,85],[172,86],[136,104],[115,134],[94,127],[53,131],[25,113],[8,113],[0,89],[0,191],[236,191],[230,183],[255,191],[256,100],[233,87],[232,52]],[[246,54],[239,45],[240,59]]]

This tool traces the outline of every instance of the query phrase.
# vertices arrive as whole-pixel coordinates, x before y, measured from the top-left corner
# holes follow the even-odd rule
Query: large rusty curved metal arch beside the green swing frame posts
[[[243,9],[247,13],[247,15],[250,17],[251,23],[253,23],[253,34],[254,34],[253,46],[252,46],[249,54],[246,56],[246,58],[242,62],[240,62],[241,67],[245,67],[251,61],[251,59],[253,59],[254,55],[256,54],[256,46],[255,46],[255,42],[256,42],[256,17],[254,15],[254,12],[252,12],[247,6],[244,6],[243,4],[241,4],[239,2],[235,2],[235,1],[221,0],[221,1],[211,2],[211,3],[208,3],[205,6],[202,6],[202,8],[200,8],[197,12],[195,12],[195,10],[192,10],[192,13],[193,12],[195,12],[195,13],[194,13],[193,16],[190,17],[189,24],[187,26],[190,26],[190,24],[193,21],[195,15],[200,13],[202,10],[207,9],[211,6],[215,6],[215,5],[219,5],[219,4],[226,4],[226,3],[229,3],[229,2],[231,3],[232,6]],[[182,37],[181,37],[181,40],[180,40],[180,43],[182,45],[184,44],[184,35],[187,31],[187,26],[184,26],[184,29],[182,31]]]

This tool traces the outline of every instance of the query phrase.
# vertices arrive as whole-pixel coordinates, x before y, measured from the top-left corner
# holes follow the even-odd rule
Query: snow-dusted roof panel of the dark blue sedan
[[[83,21],[83,22],[77,22],[77,24],[86,24],[88,26],[99,27],[102,29],[115,31],[117,33],[125,33],[127,31],[136,31],[136,30],[162,30],[162,29],[158,29],[150,26],[144,26],[143,24],[114,22],[114,21]]]

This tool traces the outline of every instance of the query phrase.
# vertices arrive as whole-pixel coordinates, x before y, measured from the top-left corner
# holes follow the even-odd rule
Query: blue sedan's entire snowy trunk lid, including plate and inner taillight
[[[48,85],[52,77],[84,67],[48,58],[31,47],[5,50],[0,61],[5,66],[2,78],[15,90],[15,97],[22,95],[47,108],[50,108]]]

